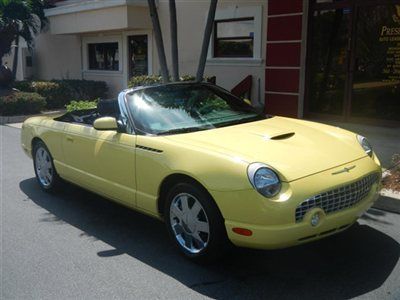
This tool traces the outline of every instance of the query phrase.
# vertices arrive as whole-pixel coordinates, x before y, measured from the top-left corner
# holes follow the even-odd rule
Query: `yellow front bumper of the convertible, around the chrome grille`
[[[351,162],[351,165],[356,165],[351,172],[333,175],[335,170],[343,168],[340,166],[287,183],[275,199],[264,198],[254,190],[211,194],[225,218],[226,231],[233,244],[258,249],[290,247],[345,230],[378,198],[381,179],[379,162],[365,157]],[[320,208],[312,208],[302,221],[296,222],[296,207],[305,199],[373,173],[379,174],[378,181],[371,186],[367,196],[354,206],[329,214]],[[312,226],[310,219],[315,212],[319,212],[321,218],[317,226]],[[233,228],[251,230],[252,235],[237,234]]]

